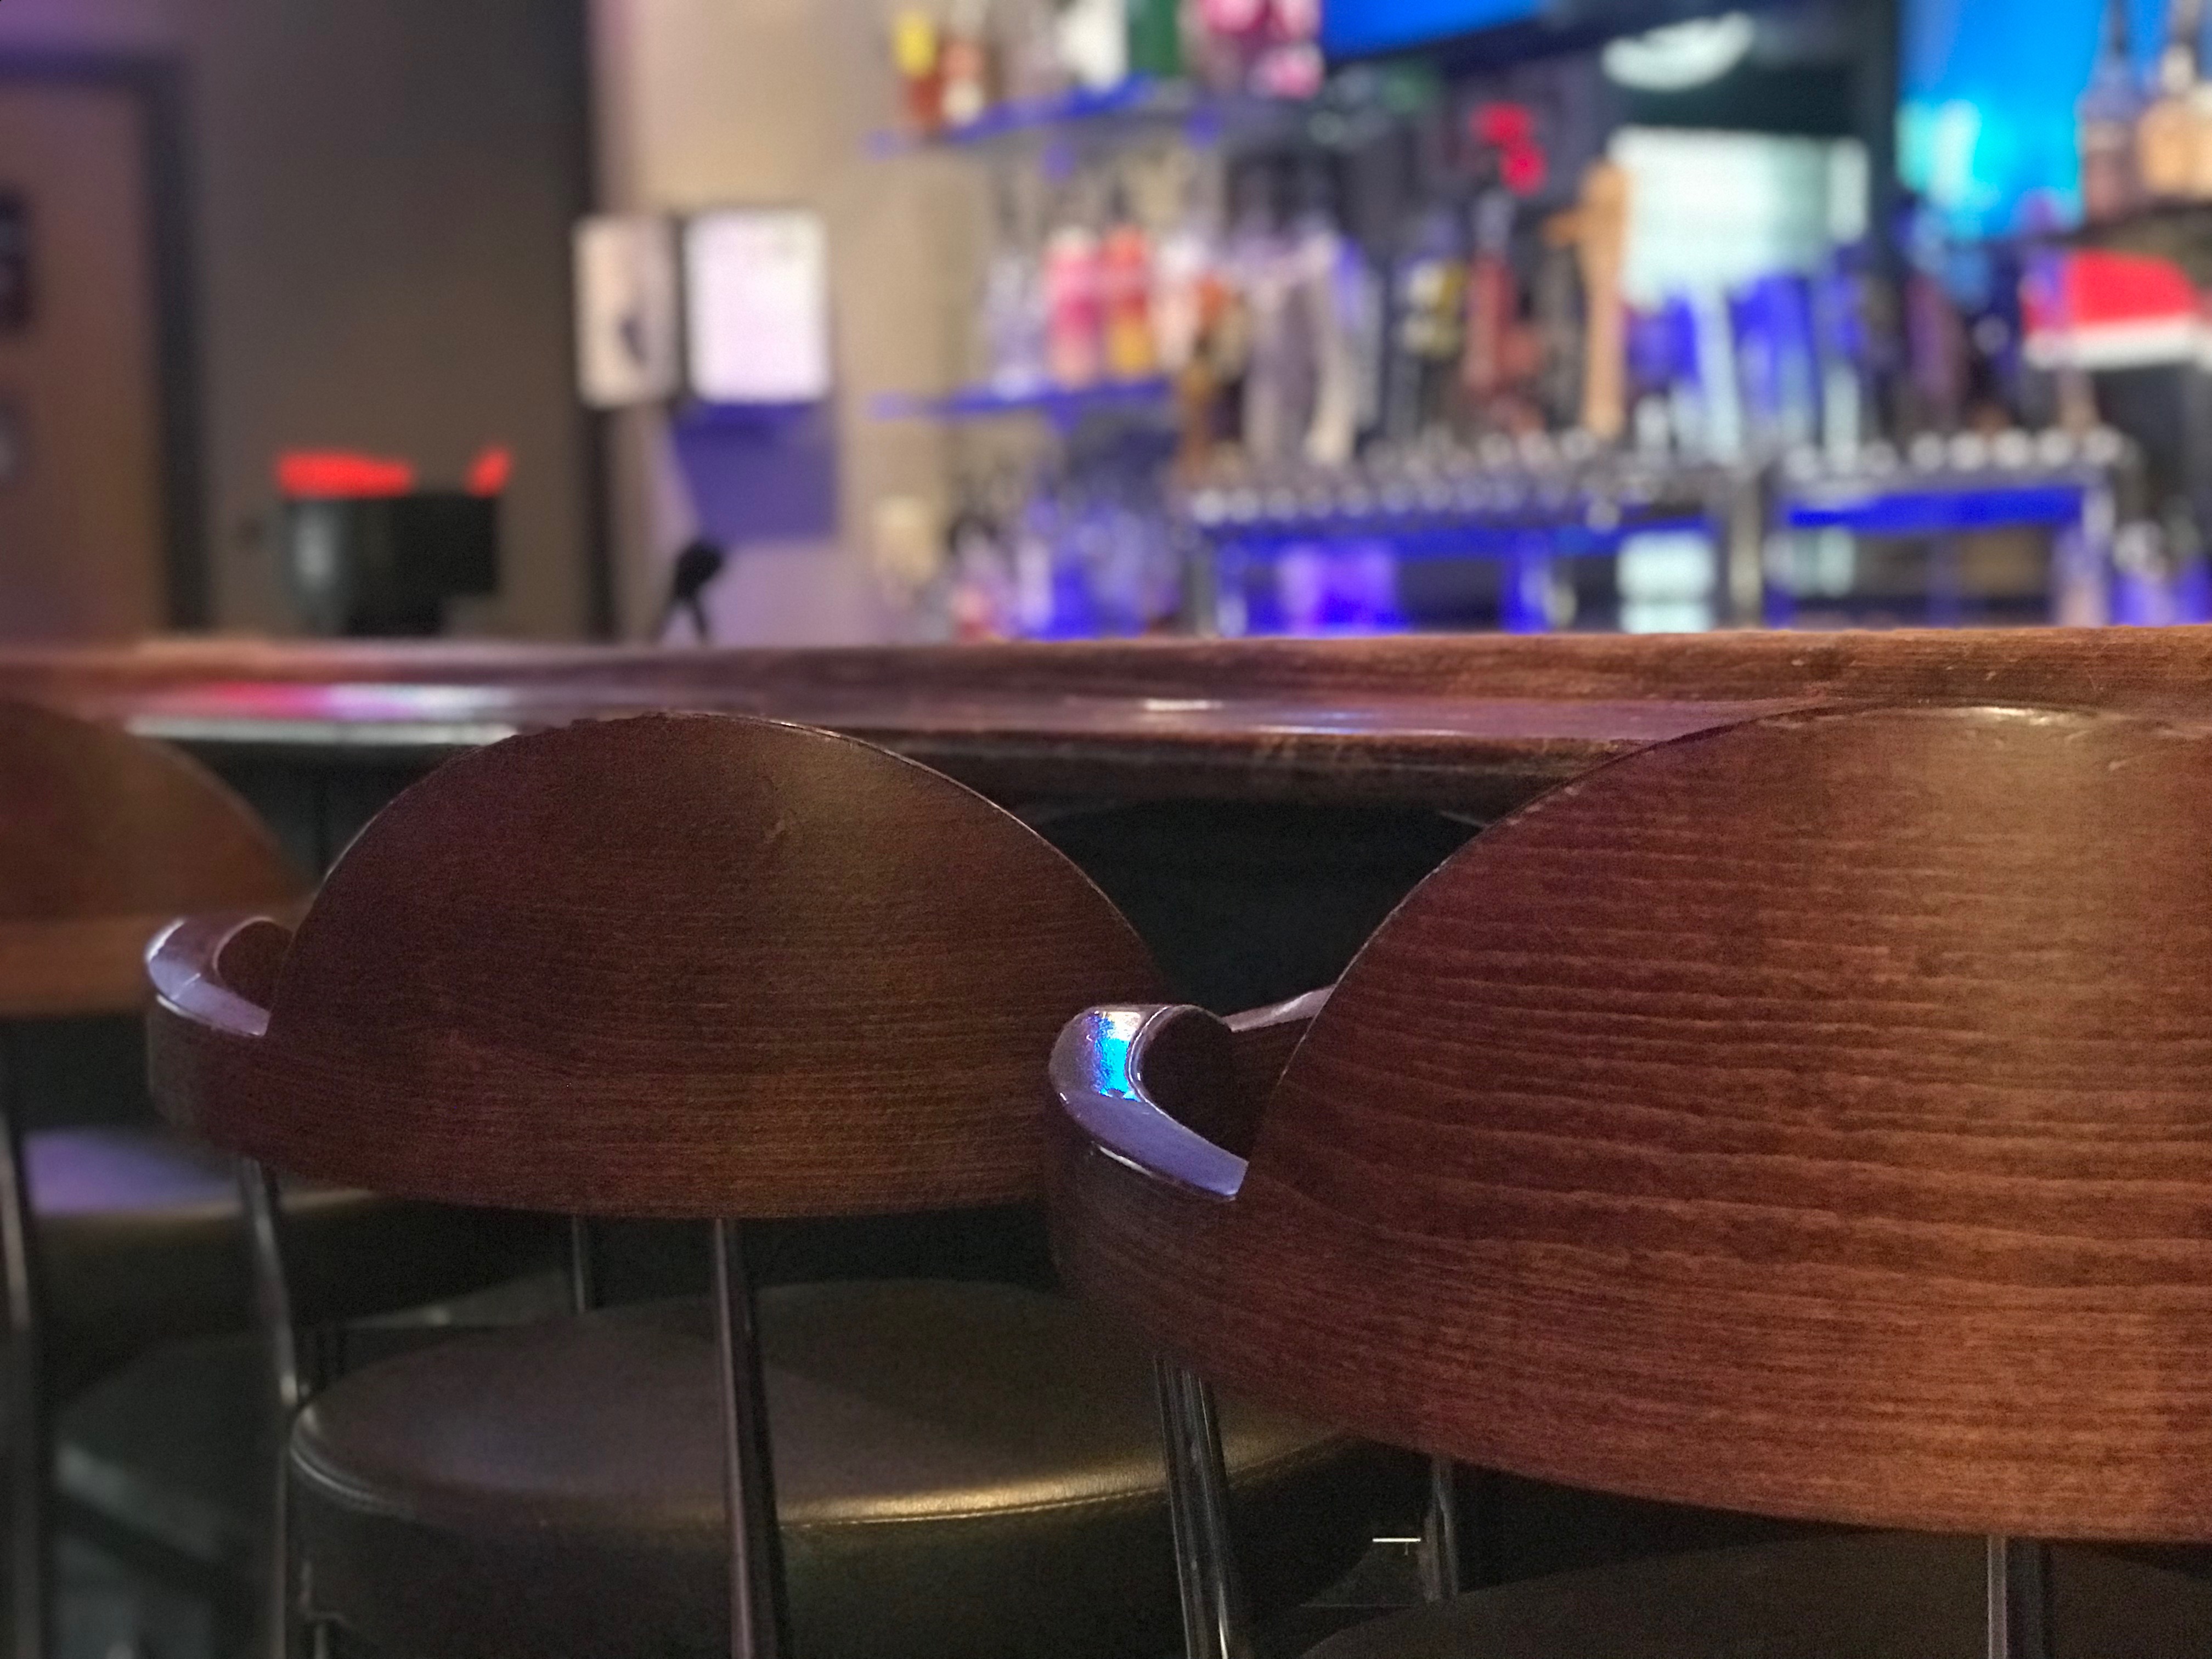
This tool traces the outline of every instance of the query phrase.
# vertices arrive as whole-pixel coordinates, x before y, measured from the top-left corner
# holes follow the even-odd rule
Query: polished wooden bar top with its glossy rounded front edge
[[[719,710],[885,743],[1000,799],[1495,816],[1635,748],[1836,701],[2212,717],[2212,630],[1121,641],[883,650],[168,641],[0,653],[0,695],[208,748],[440,757]]]

